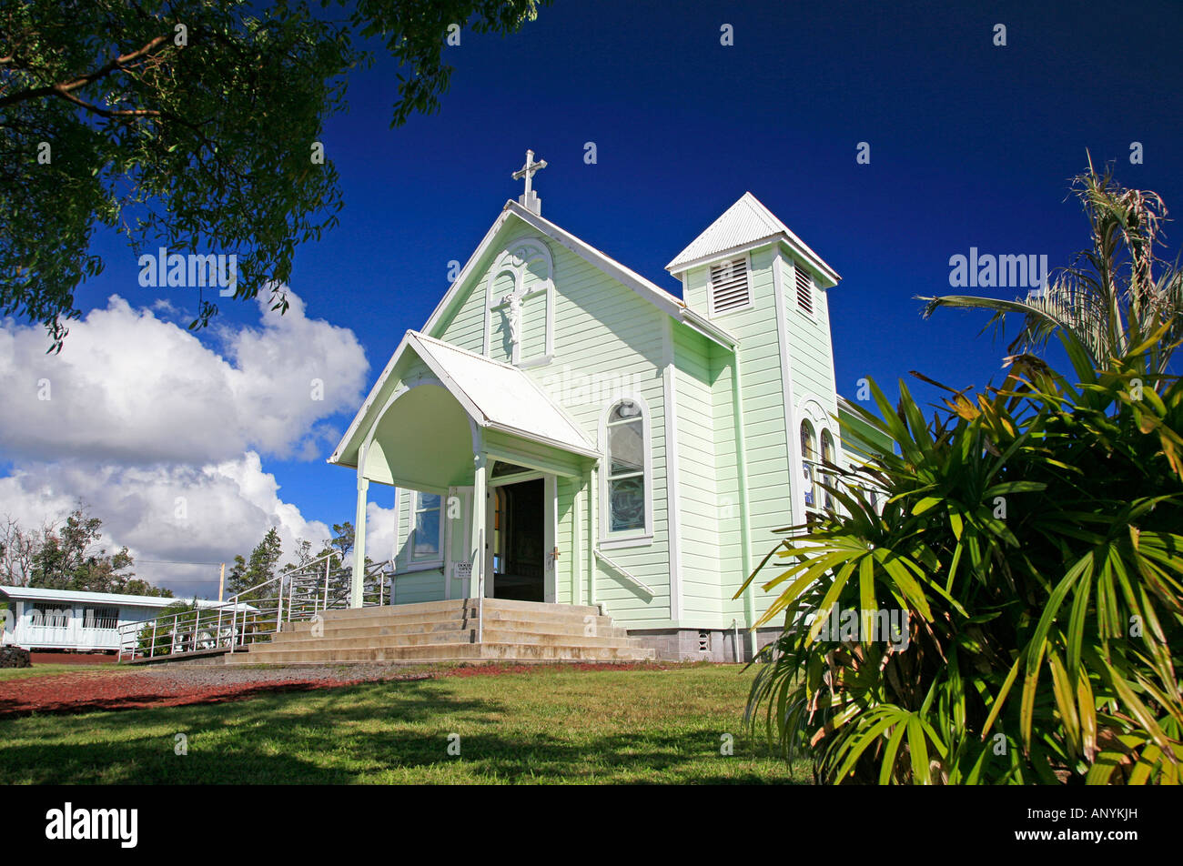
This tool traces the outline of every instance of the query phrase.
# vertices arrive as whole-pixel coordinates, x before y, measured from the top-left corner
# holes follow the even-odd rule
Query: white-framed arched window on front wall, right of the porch
[[[609,537],[641,532],[648,524],[645,425],[645,411],[635,400],[621,400],[608,413],[605,529]]]

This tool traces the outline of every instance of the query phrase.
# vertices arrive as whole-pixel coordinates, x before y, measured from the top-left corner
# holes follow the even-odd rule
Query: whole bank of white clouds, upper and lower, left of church
[[[40,329],[0,322],[0,459],[14,466],[0,516],[35,528],[80,499],[109,550],[127,545],[137,576],[177,595],[216,597],[216,564],[160,561],[228,566],[270,526],[286,554],[297,539],[318,549],[330,526],[280,497],[260,454],[309,459],[335,445],[328,419],[361,403],[369,366],[351,330],[287,297],[284,316],[260,297],[258,327],[209,332],[220,353],[118,296],[71,324],[60,355],[45,355]],[[379,558],[393,511],[371,504],[369,517]]]

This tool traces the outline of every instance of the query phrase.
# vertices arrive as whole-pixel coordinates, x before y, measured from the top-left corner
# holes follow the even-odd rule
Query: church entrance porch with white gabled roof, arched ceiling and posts
[[[594,588],[560,592],[556,563],[570,557],[573,579],[597,570],[599,461],[595,444],[525,371],[408,332],[330,458],[356,472],[355,584],[373,482],[397,489],[392,603],[594,603]]]

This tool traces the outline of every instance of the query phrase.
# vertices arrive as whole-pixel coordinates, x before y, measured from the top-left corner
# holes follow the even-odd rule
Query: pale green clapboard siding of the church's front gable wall
[[[657,595],[649,597],[603,564],[597,568],[595,599],[607,605],[622,625],[668,621],[670,573],[668,525],[666,519],[665,394],[662,364],[665,355],[665,314],[627,286],[594,267],[567,248],[539,238],[521,222],[510,220],[494,239],[492,253],[481,267],[461,286],[453,302],[453,312],[437,329],[437,336],[470,350],[480,351],[484,342],[484,309],[491,269],[508,247],[524,238],[544,243],[554,259],[554,355],[548,363],[528,368],[551,399],[567,409],[596,447],[600,427],[610,405],[622,395],[639,398],[648,408],[652,478],[646,491],[652,503],[653,539],[644,547],[606,551]],[[526,289],[539,282],[530,276]],[[497,296],[498,298],[500,295]],[[494,302],[496,303],[496,302]],[[523,315],[521,361],[544,361],[547,297],[526,299]],[[479,314],[479,315],[478,315]],[[498,361],[509,358],[505,317],[491,317],[490,355]],[[477,347],[473,349],[473,347]],[[496,437],[489,437],[496,439]],[[528,448],[528,444],[518,442]],[[587,600],[588,593],[588,493],[586,483],[561,479],[558,496],[558,532],[561,550],[556,571],[556,594],[570,601],[573,594]],[[599,497],[599,492],[596,492]],[[576,499],[580,499],[576,506]],[[597,502],[597,521],[606,519],[605,503]],[[580,525],[575,526],[575,515]],[[581,537],[575,544],[573,534]],[[597,531],[599,536],[599,531]],[[578,551],[578,562],[570,555]]]

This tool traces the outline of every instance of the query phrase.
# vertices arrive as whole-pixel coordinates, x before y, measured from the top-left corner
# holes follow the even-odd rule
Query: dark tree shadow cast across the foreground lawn
[[[445,783],[802,781],[739,742],[736,757],[719,756],[718,733],[707,724],[554,736],[517,730],[521,707],[461,698],[440,680],[316,690],[315,697],[309,691],[269,689],[250,703],[235,696],[234,703],[118,711],[71,719],[72,728],[37,717],[0,722],[0,743],[8,743],[0,745],[0,763],[13,782],[66,784],[341,784],[392,776]],[[518,718],[505,723],[515,712]],[[174,754],[175,733],[187,737],[185,756]],[[448,755],[453,733],[461,756]],[[71,742],[78,737],[88,742]]]

